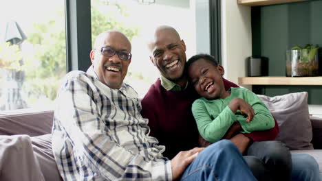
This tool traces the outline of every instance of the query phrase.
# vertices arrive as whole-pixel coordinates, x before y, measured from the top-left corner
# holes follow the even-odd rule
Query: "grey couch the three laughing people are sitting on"
[[[286,143],[292,153],[310,154],[320,166],[322,176],[322,118],[308,114],[308,93],[292,93],[277,97],[259,95],[279,123],[280,133],[277,140]],[[291,101],[290,101],[291,100]],[[24,138],[32,147],[35,165],[45,180],[61,180],[51,149],[51,130],[54,112],[19,110],[1,112],[0,143]],[[16,136],[10,136],[16,135]],[[0,147],[1,151],[1,147]],[[1,155],[0,155],[1,158]],[[2,159],[2,158],[1,158]],[[1,160],[0,160],[0,168]],[[19,169],[19,168],[13,168]],[[3,173],[3,170],[1,170]],[[0,177],[0,180],[3,180]]]

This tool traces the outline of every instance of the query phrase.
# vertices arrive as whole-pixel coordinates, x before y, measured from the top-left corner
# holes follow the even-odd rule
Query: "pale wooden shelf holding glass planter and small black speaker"
[[[238,77],[238,84],[321,86],[322,77]]]

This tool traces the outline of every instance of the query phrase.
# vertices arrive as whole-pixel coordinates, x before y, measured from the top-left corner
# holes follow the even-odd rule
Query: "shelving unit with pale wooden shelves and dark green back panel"
[[[269,60],[267,77],[246,77],[245,73],[241,75],[243,77],[238,77],[238,84],[252,87],[254,93],[270,97],[305,91],[309,93],[308,104],[322,106],[322,75],[286,77],[283,62],[286,61],[283,51],[286,45],[305,45],[310,40],[314,40],[314,44],[322,44],[319,38],[322,0],[237,0],[235,3],[237,8],[251,11],[251,28],[246,29],[251,30],[253,55],[250,56],[264,56]],[[243,22],[249,22],[248,15],[241,16]],[[240,68],[247,68],[246,64],[245,67],[237,67]]]

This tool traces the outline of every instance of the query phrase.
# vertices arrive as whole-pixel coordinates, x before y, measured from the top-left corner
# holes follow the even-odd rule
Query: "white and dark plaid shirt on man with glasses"
[[[112,89],[92,67],[72,71],[56,98],[52,147],[64,180],[171,180],[164,146],[148,136],[138,95]]]

